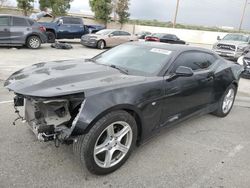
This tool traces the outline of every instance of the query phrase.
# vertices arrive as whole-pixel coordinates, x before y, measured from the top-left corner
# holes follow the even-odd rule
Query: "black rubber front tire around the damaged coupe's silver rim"
[[[127,153],[123,156],[123,158],[121,158],[119,163],[111,166],[110,168],[103,168],[100,167],[95,161],[94,148],[97,141],[100,139],[100,136],[103,134],[103,131],[105,131],[106,128],[109,127],[112,123],[117,121],[126,122],[131,128],[131,145],[128,148]],[[74,153],[80,158],[81,163],[85,165],[91,173],[97,175],[105,175],[117,170],[126,162],[135,147],[136,139],[137,125],[135,119],[125,111],[114,111],[100,118],[87,134],[79,136],[73,143],[73,150]],[[106,152],[108,152],[108,150],[105,151],[105,157]],[[117,160],[116,157],[114,157],[113,160]]]

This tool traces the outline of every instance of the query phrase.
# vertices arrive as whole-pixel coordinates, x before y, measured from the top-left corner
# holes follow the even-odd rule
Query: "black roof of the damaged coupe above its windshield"
[[[214,54],[213,51],[200,48],[200,47],[192,47],[189,45],[180,45],[180,44],[166,44],[166,43],[160,43],[160,42],[131,42],[129,44],[132,45],[138,45],[138,46],[145,46],[145,47],[151,47],[151,48],[161,48],[165,50],[175,51],[175,52],[185,52],[185,51],[201,51],[201,52],[207,52]]]

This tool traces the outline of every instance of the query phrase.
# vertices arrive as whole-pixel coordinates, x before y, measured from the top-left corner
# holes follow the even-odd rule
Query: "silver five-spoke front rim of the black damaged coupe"
[[[99,167],[110,168],[127,154],[133,140],[128,123],[117,121],[110,124],[98,137],[94,147],[94,160]]]

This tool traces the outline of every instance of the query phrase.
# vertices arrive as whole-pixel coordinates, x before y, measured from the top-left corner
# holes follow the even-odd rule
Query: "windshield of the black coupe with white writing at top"
[[[127,70],[128,74],[156,76],[171,57],[172,51],[166,49],[124,44],[94,57],[93,60],[99,64],[120,67]]]

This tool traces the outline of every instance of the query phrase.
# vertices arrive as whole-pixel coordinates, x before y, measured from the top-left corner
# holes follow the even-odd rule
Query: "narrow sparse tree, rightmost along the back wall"
[[[123,24],[129,21],[129,0],[118,0],[115,11],[119,16],[118,21],[122,28]]]

